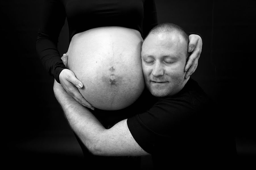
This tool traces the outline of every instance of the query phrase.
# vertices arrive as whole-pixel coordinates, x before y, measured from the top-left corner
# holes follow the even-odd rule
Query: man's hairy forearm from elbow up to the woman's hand
[[[69,125],[86,148],[94,153],[97,150],[99,134],[106,129],[86,107],[79,104],[73,97],[67,94],[60,84],[55,82],[53,90]]]

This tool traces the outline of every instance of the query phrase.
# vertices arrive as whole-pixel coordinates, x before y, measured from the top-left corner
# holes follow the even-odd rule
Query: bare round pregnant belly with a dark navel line
[[[68,69],[84,84],[83,97],[102,110],[123,109],[144,89],[139,31],[99,27],[73,36]]]

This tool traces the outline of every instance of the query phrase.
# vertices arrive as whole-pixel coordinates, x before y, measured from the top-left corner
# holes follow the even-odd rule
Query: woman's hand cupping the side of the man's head
[[[189,45],[188,45],[187,51],[192,53],[190,54],[184,69],[184,71],[187,72],[185,75],[186,79],[189,76],[191,76],[197,69],[198,59],[202,51],[202,46],[203,46],[203,41],[199,35],[196,35],[196,34],[189,35]]]

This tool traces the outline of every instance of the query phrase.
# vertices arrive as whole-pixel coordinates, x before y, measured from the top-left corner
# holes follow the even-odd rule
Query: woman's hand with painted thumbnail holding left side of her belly
[[[67,67],[68,62],[68,56],[67,54],[63,54],[61,57],[64,65]],[[69,95],[71,95],[77,102],[79,102],[81,105],[88,107],[92,110],[94,110],[94,107],[90,103],[88,103],[82,94],[79,92],[78,88],[83,88],[82,82],[78,80],[73,73],[73,71],[69,69],[63,69],[61,73],[59,74],[59,81],[63,88],[67,91]]]

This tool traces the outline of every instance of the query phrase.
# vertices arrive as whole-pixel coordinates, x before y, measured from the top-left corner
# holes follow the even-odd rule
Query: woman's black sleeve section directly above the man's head
[[[145,0],[143,19],[143,39],[149,31],[158,24],[156,5],[154,0]]]

